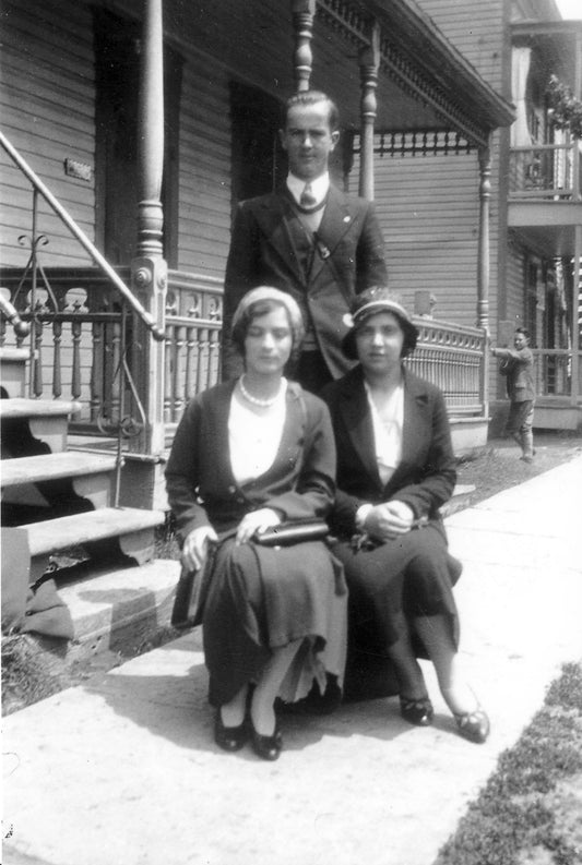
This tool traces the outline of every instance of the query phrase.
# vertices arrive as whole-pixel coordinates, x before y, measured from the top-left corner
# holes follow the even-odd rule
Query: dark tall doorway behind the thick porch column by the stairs
[[[138,235],[138,104],[141,25],[94,12],[96,239],[114,265],[128,265]],[[182,60],[164,47],[164,255],[178,256],[178,131]]]

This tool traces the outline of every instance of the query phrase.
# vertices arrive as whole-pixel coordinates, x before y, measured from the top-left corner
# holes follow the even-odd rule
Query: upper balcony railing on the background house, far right
[[[578,142],[512,147],[510,197],[581,201],[581,158]]]

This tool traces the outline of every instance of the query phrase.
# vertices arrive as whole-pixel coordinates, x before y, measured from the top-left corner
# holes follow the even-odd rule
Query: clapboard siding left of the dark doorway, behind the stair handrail
[[[91,8],[74,0],[3,3],[2,129],[34,171],[94,238],[94,180],[66,176],[67,157],[94,165],[94,62]],[[2,261],[23,265],[21,235],[31,231],[28,182],[2,151],[4,202],[0,242]],[[47,205],[39,204],[39,230],[49,243],[43,263],[86,265],[88,256]]]

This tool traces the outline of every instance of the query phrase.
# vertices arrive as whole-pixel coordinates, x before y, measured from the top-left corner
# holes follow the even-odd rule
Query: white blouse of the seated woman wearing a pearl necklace
[[[254,480],[275,461],[287,413],[287,383],[272,406],[258,416],[235,388],[228,413],[230,466],[237,483]]]

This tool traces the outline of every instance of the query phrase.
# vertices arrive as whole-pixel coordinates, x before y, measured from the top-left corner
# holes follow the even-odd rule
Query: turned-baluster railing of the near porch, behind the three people
[[[119,275],[129,271],[119,268]],[[82,411],[71,430],[107,432],[118,416],[121,393],[119,364],[122,312],[108,280],[95,268],[45,268],[51,292],[37,288],[36,308],[15,268],[0,269],[0,292],[34,331],[35,364],[31,395],[73,398]],[[19,291],[19,286],[21,286]],[[166,305],[164,420],[167,432],[181,418],[188,400],[219,380],[222,280],[170,271]],[[411,369],[437,384],[451,415],[482,417],[485,410],[484,331],[423,316],[415,317],[420,337]],[[131,331],[131,320],[126,321]],[[131,333],[126,333],[131,344]],[[20,346],[0,324],[0,345]],[[129,363],[139,362],[139,351]],[[127,394],[126,404],[131,401]]]

